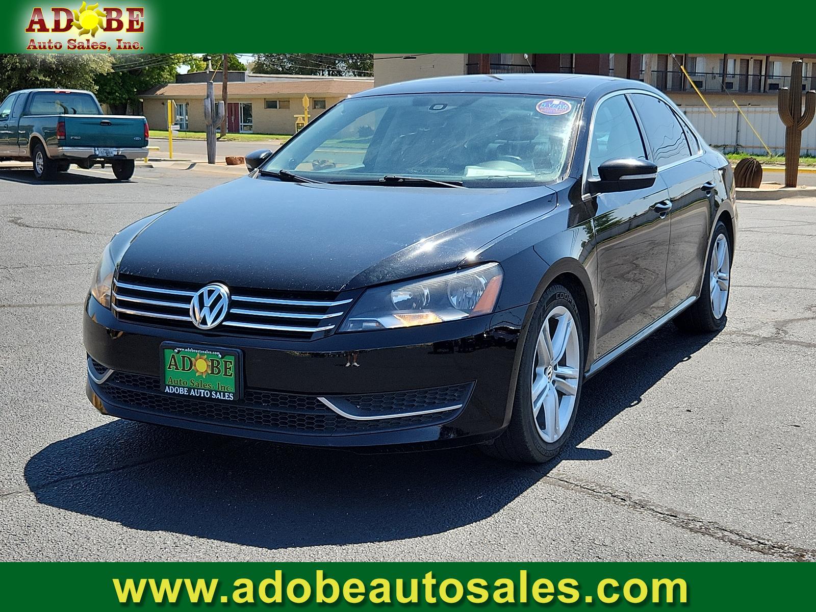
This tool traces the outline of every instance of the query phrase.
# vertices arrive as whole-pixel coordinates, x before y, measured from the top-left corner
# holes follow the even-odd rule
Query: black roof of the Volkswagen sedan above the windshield
[[[460,92],[563,95],[586,99],[620,89],[657,91],[654,87],[640,81],[593,74],[468,74],[459,77],[421,78],[415,81],[393,83],[361,91],[353,97]]]

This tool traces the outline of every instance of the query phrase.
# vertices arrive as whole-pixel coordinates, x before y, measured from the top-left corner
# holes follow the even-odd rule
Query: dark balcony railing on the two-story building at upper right
[[[689,77],[699,91],[708,93],[765,93],[778,91],[782,87],[791,84],[790,76],[768,75],[767,86],[765,86],[764,74],[740,74],[726,73],[725,78],[721,73],[698,73],[690,72]],[[652,85],[661,91],[694,91],[689,79],[685,78],[680,70],[652,70]],[[813,89],[816,86],[816,77],[803,79],[802,89]]]

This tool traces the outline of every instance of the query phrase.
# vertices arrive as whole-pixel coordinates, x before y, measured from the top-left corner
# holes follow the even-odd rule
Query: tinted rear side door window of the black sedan
[[[658,167],[691,157],[680,120],[665,102],[654,95],[632,94],[632,104],[641,118],[652,161]]]

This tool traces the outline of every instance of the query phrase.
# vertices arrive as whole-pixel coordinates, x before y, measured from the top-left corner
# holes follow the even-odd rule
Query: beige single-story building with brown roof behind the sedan
[[[269,81],[228,84],[227,129],[255,134],[294,134],[295,115],[304,113],[308,96],[309,118],[316,118],[348,95],[370,89],[371,78],[271,78]],[[167,100],[176,104],[175,122],[181,131],[205,131],[206,82],[175,82],[156,86],[139,95],[142,113],[154,130],[167,129]],[[221,82],[215,82],[215,100],[221,99]]]

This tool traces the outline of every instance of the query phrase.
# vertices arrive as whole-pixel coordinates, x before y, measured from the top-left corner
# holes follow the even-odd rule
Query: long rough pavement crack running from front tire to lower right
[[[738,548],[759,552],[762,555],[769,555],[771,557],[780,557],[786,561],[816,561],[816,550],[812,548],[800,548],[793,544],[775,542],[772,539],[764,538],[759,535],[732,529],[716,521],[707,521],[706,519],[695,517],[687,512],[681,512],[659,503],[654,503],[648,499],[635,498],[632,494],[625,491],[619,491],[610,486],[584,480],[583,478],[550,473],[543,477],[543,481],[547,481],[548,484],[561,487],[565,490],[591,494],[594,497],[605,499],[623,508],[650,514],[682,530],[707,535],[710,538]]]

